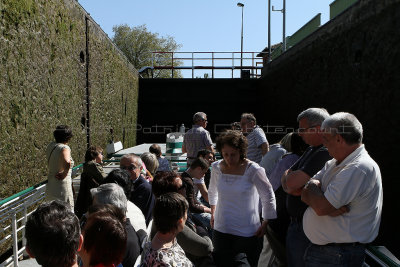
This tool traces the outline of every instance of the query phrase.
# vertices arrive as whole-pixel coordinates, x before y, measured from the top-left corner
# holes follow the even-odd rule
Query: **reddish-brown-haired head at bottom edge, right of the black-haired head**
[[[83,246],[79,251],[83,267],[115,267],[125,255],[125,215],[112,205],[107,209],[90,213],[83,227]]]

